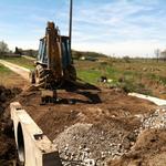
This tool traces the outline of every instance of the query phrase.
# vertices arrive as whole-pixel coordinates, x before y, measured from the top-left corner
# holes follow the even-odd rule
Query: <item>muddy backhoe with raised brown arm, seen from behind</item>
[[[70,38],[60,34],[53,22],[48,22],[45,37],[40,40],[35,71],[31,82],[38,87],[56,90],[76,80],[70,49]]]

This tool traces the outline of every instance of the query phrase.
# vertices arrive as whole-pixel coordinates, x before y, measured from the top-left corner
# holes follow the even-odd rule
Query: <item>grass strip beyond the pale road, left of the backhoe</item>
[[[24,66],[30,70],[34,69],[34,62],[25,58],[1,58],[1,59],[18,64],[20,66]]]

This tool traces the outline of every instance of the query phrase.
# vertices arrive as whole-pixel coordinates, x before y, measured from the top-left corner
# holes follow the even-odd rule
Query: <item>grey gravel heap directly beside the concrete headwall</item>
[[[108,158],[117,158],[129,148],[120,131],[105,132],[92,124],[77,123],[55,139],[64,166],[102,166]],[[129,144],[129,145],[127,145]]]

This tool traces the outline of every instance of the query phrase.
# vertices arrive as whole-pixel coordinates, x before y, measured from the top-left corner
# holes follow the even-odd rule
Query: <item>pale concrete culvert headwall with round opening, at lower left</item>
[[[18,103],[11,103],[11,120],[19,159],[24,166],[62,166],[58,148]]]

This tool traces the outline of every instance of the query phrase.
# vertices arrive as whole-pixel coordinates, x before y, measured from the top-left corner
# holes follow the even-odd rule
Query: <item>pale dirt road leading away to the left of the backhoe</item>
[[[19,66],[17,64],[7,62],[4,60],[0,60],[0,63],[3,64],[4,66],[9,68],[11,71],[15,72],[17,74],[21,75],[23,79],[29,80],[29,73],[30,73],[29,69]]]

